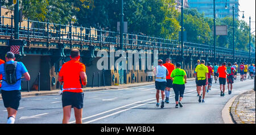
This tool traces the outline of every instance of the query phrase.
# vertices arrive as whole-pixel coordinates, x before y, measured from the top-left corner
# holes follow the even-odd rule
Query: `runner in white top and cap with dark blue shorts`
[[[168,70],[163,66],[163,61],[158,60],[158,66],[155,67],[155,88],[156,88],[156,107],[159,107],[159,91],[162,95],[161,108],[164,107],[164,90],[166,88],[166,76],[169,75]]]

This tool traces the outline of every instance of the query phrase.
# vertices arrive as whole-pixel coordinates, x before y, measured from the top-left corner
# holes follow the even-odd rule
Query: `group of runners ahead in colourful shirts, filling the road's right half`
[[[160,91],[162,95],[161,108],[164,107],[164,103],[170,103],[169,96],[171,88],[174,89],[175,93],[175,108],[179,106],[183,107],[181,100],[183,99],[185,83],[187,83],[187,74],[185,70],[180,68],[181,64],[177,63],[175,69],[174,64],[170,62],[170,58],[166,59],[165,64],[163,64],[162,60],[158,61],[158,66],[154,69],[157,107],[160,105]],[[246,79],[247,70],[250,72],[250,77],[254,78],[255,65],[251,64],[249,68],[247,68],[246,63],[242,63],[240,65],[241,81]],[[204,60],[197,60],[194,71],[197,96],[199,96],[198,101],[200,103],[205,103],[205,94],[209,92],[212,86],[213,76],[215,83],[217,83],[217,81],[220,83],[220,96],[225,96],[226,83],[228,83],[228,94],[232,94],[234,79],[237,78],[238,73],[237,62],[234,62],[233,65],[230,62],[228,65],[226,62],[223,62],[221,66],[218,66],[217,63],[212,66],[212,64],[208,62],[207,66],[205,66]],[[166,100],[164,100],[164,98],[166,98]]]

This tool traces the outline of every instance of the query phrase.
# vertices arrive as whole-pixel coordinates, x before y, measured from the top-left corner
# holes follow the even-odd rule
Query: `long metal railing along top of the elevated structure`
[[[14,18],[0,16],[0,34],[6,36],[14,36]],[[107,31],[106,29],[85,28],[68,25],[56,24],[49,22],[39,22],[23,19],[19,23],[19,36],[26,37],[28,40],[46,39],[60,41],[79,41],[96,44],[113,44],[119,45],[119,33]],[[150,47],[155,49],[180,49],[180,41],[162,39],[159,37],[150,37],[142,34],[123,34],[123,45],[125,47]],[[197,43],[184,42],[184,50],[196,50],[204,52],[213,52],[212,45],[204,45]],[[232,54],[233,50],[228,48],[216,47],[216,53]],[[240,56],[249,56],[248,52],[236,50],[236,54]],[[251,53],[251,57],[255,58],[255,53]]]

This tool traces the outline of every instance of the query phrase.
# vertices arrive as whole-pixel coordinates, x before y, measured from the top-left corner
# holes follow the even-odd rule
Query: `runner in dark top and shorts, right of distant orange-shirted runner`
[[[236,72],[236,69],[231,67],[231,63],[228,63],[228,67],[226,68],[226,72],[228,73],[228,77],[226,78],[226,82],[228,82],[228,90],[229,95],[232,93],[233,83],[234,83],[234,73]]]

